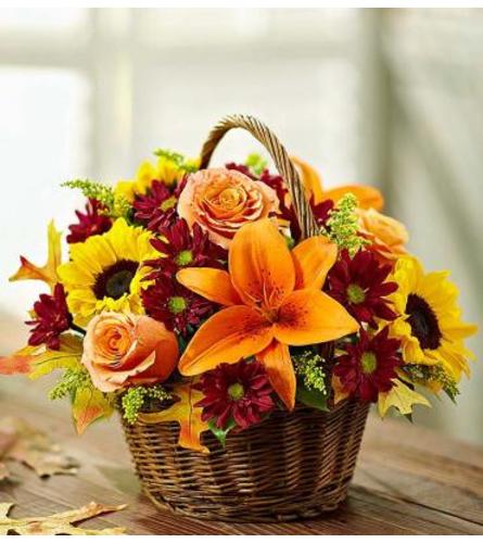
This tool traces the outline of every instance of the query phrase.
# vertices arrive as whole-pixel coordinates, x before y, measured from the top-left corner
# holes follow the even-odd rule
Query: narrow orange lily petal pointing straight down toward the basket
[[[275,340],[256,357],[264,365],[268,380],[280,400],[292,411],[295,406],[296,379],[289,348]]]

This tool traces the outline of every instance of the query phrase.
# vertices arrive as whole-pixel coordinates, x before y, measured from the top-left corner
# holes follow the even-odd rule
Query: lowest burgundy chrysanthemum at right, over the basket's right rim
[[[335,358],[333,372],[351,395],[361,402],[376,402],[379,392],[391,390],[397,377],[401,343],[387,338],[387,327],[372,338],[364,329],[359,333],[357,343],[347,345],[346,354]]]

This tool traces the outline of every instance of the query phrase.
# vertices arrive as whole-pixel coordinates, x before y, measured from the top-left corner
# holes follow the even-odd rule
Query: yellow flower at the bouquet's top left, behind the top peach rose
[[[188,161],[187,166],[196,166],[198,161]],[[136,173],[136,179],[128,181],[118,181],[114,188],[114,193],[117,197],[123,197],[131,203],[137,194],[145,194],[151,187],[153,180],[157,179],[167,186],[171,186],[179,181],[187,173],[187,169],[181,167],[176,161],[168,156],[160,156],[155,164],[151,162],[142,162]]]

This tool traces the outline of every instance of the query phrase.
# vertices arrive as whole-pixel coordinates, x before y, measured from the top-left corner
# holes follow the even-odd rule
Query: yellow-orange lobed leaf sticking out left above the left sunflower
[[[34,279],[45,281],[53,290],[54,286],[59,282],[58,266],[61,264],[61,232],[55,229],[53,220],[49,223],[47,229],[47,245],[48,257],[45,266],[36,266],[30,261],[21,256],[21,267],[9,279],[10,281],[21,281],[26,279]]]

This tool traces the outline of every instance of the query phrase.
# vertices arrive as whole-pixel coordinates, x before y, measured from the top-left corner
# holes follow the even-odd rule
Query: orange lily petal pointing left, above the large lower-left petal
[[[183,268],[176,279],[196,294],[221,305],[240,305],[241,300],[231,285],[228,272],[216,268]]]

